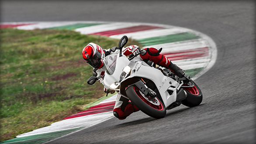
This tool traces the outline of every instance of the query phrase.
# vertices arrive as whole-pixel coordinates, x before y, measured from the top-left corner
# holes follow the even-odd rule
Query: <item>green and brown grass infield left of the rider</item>
[[[0,141],[61,121],[105,94],[100,83],[86,83],[92,67],[81,52],[90,42],[107,49],[119,40],[49,29],[0,35]]]

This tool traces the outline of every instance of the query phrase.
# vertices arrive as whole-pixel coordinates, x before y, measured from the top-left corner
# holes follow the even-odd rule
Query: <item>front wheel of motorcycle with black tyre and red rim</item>
[[[135,85],[128,87],[126,94],[132,104],[138,107],[143,113],[157,119],[165,117],[166,108],[158,97],[146,96]]]

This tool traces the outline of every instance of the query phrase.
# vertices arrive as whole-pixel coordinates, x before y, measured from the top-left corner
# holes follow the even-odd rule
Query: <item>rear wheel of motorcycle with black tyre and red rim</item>
[[[193,80],[191,80],[190,83],[183,84],[182,88],[187,92],[186,99],[182,100],[183,105],[187,107],[195,107],[201,104],[203,100],[203,94]]]

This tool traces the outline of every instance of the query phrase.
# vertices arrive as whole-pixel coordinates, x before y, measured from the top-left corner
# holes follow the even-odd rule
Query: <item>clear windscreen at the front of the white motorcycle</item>
[[[106,68],[107,74],[114,74],[114,70],[116,68],[118,54],[111,54],[105,57],[104,59],[104,67]]]

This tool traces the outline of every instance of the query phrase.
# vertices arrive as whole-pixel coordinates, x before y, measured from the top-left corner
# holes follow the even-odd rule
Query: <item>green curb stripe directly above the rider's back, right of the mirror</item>
[[[149,45],[156,45],[156,44],[164,44],[164,43],[173,43],[177,41],[183,41],[183,40],[193,40],[193,39],[199,39],[201,37],[196,36],[192,33],[178,33],[178,34],[170,34],[166,36],[160,36],[160,37],[151,37],[146,39],[138,39],[137,41],[140,42],[143,46],[149,46]]]

